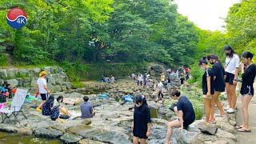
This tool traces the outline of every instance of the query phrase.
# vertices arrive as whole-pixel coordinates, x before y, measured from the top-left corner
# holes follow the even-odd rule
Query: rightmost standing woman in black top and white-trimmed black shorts
[[[252,62],[254,54],[249,51],[242,53],[242,63],[240,64],[242,71],[242,86],[240,90],[242,100],[242,126],[236,126],[239,132],[251,132],[249,128],[248,105],[254,96],[254,78],[256,75],[256,65]],[[246,69],[245,69],[246,66]]]

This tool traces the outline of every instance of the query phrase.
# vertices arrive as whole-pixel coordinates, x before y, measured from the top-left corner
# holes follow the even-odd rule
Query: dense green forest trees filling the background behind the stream
[[[14,7],[28,15],[21,30],[6,23]],[[2,0],[0,46],[14,65],[60,64],[80,73],[89,63],[190,66],[210,53],[223,60],[226,44],[238,54],[256,52],[255,0],[230,7],[225,32],[202,30],[177,9],[170,0]],[[5,54],[0,61],[7,65]]]

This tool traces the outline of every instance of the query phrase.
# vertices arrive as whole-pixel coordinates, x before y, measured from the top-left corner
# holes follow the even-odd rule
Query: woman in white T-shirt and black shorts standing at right
[[[229,102],[229,106],[226,106],[224,110],[231,114],[235,112],[237,103],[237,96],[235,95],[237,82],[234,81],[234,79],[238,78],[240,58],[238,57],[238,54],[234,53],[234,50],[232,50],[229,45],[224,47],[224,51],[226,54],[226,94]]]

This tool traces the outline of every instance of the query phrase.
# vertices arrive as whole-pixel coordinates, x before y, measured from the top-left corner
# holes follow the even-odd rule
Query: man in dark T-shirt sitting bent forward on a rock
[[[190,100],[186,96],[180,97],[181,93],[178,90],[172,90],[170,95],[174,100],[178,100],[177,106],[173,107],[174,112],[178,114],[178,119],[167,125],[166,144],[170,144],[174,127],[179,127],[178,130],[182,130],[190,126],[195,120],[194,109]]]

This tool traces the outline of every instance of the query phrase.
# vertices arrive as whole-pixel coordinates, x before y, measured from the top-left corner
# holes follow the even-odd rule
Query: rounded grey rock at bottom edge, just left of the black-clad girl
[[[113,144],[119,144],[119,143],[130,144],[131,143],[128,135],[118,131],[114,131],[114,130],[103,131],[100,134],[92,135],[92,138],[96,141],[113,143]]]

